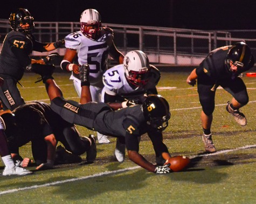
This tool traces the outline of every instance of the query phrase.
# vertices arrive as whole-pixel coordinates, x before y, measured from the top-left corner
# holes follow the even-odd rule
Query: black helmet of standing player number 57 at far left
[[[10,14],[10,25],[12,30],[30,33],[34,29],[34,17],[31,16],[27,9],[19,8],[14,13]],[[29,27],[22,28],[22,25],[29,24]]]

